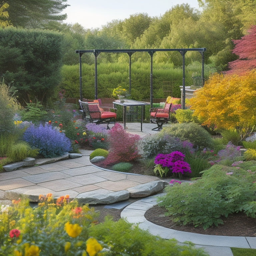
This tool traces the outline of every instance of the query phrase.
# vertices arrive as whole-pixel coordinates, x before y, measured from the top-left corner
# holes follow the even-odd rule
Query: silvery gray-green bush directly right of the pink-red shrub
[[[138,151],[145,158],[153,158],[158,153],[168,154],[172,151],[180,151],[182,142],[169,134],[157,133],[146,135],[137,143]]]

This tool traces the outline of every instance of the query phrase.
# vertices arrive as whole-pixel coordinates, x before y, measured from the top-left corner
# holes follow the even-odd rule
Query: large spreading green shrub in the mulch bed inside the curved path
[[[223,224],[222,216],[245,211],[250,202],[256,201],[255,180],[255,172],[214,165],[203,171],[195,183],[168,186],[159,205],[167,209],[166,214],[175,222],[207,229]]]

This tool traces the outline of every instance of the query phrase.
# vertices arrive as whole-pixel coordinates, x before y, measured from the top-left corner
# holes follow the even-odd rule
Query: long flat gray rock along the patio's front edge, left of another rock
[[[83,195],[80,194],[76,198],[79,203],[84,204],[113,204],[119,201],[127,200],[130,196],[130,193],[127,190],[111,192],[108,194],[88,193],[88,196],[85,196],[86,193],[82,194]]]

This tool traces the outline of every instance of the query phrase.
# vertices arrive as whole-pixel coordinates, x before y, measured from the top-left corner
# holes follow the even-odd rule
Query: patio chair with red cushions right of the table
[[[150,112],[150,123],[157,124],[157,127],[153,128],[152,131],[161,131],[163,124],[167,124],[170,117],[172,103],[165,103],[164,108],[151,108]]]

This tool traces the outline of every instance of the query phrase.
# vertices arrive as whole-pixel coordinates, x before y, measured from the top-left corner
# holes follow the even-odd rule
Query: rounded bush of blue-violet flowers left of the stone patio
[[[63,155],[71,149],[70,140],[51,125],[30,126],[24,132],[24,140],[46,158]]]

